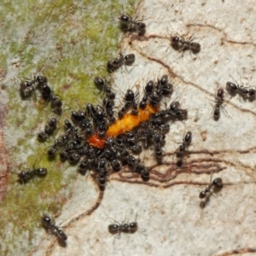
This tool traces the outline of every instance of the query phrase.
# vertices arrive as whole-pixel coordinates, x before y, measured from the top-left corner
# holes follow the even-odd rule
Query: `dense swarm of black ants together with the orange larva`
[[[157,82],[148,81],[141,102],[137,101],[137,93],[128,89],[124,96],[125,103],[118,113],[113,111],[115,94],[108,81],[96,77],[95,84],[106,93],[102,105],[87,103],[84,109],[72,111],[71,119],[64,121],[65,133],[48,148],[49,158],[55,157],[59,151],[61,161],[78,165],[79,172],[94,170],[102,189],[111,174],[108,166],[113,172],[118,172],[122,163],[147,180],[148,169],[133,154],[139,154],[143,145],[152,146],[155,157],[160,160],[165,134],[169,131],[166,118],[184,119],[187,116],[179,102],[172,102],[169,108],[160,110],[161,100],[172,94],[172,84],[166,75]],[[52,123],[55,124],[56,119],[55,122],[53,119],[49,119],[42,132],[45,137],[49,136],[47,130],[52,131],[49,127],[55,127]]]

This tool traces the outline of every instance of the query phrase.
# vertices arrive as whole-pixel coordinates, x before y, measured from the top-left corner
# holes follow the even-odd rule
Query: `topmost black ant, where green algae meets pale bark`
[[[131,15],[124,14],[123,8],[123,14],[119,16],[119,20],[121,22],[121,29],[129,32],[136,31],[139,34],[145,33],[146,24],[141,22],[142,20],[136,19],[137,17],[134,20],[132,20]]]

